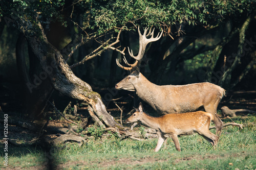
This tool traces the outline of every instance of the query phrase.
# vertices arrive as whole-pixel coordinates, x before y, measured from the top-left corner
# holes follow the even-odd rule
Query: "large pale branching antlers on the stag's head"
[[[140,45],[140,47],[139,47],[139,53],[138,53],[137,56],[134,56],[134,55],[133,55],[133,51],[131,50],[131,52],[130,52],[130,49],[129,49],[129,47],[128,47],[129,55],[130,55],[132,58],[134,58],[134,59],[136,60],[135,63],[134,63],[134,64],[129,64],[129,63],[127,62],[126,58],[123,57],[124,63],[125,63],[126,65],[130,66],[130,67],[124,67],[124,66],[122,66],[122,65],[119,63],[118,59],[116,59],[116,64],[117,64],[119,67],[121,67],[121,68],[123,68],[123,69],[125,69],[125,70],[131,70],[131,69],[133,69],[133,67],[135,67],[135,66],[137,66],[137,65],[140,65],[141,60],[142,60],[142,58],[143,58],[143,56],[144,56],[144,53],[145,53],[145,50],[146,50],[146,45],[147,45],[148,43],[150,43],[150,42],[159,40],[159,39],[161,38],[162,34],[163,34],[163,31],[162,31],[161,34],[158,33],[157,36],[154,38],[154,30],[155,30],[155,29],[153,29],[153,31],[151,31],[151,29],[150,29],[150,31],[146,34],[147,30],[148,30],[148,28],[146,28],[145,31],[144,31],[144,33],[143,33],[143,35],[141,35],[140,30],[139,30],[139,27],[138,27],[139,45]],[[159,35],[159,34],[160,34],[160,35]],[[148,36],[151,36],[151,37],[150,37],[150,38],[146,38],[146,37],[148,37]]]

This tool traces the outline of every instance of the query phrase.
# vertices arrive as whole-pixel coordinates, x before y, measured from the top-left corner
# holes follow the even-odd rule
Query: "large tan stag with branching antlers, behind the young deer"
[[[194,83],[187,85],[163,85],[158,86],[148,81],[138,69],[143,58],[146,45],[160,39],[162,33],[154,38],[154,30],[146,35],[147,29],[141,35],[138,28],[139,53],[134,56],[129,50],[131,57],[136,59],[134,64],[129,64],[124,57],[125,64],[130,67],[122,66],[118,59],[116,63],[125,70],[132,70],[132,73],[116,84],[116,89],[136,91],[140,99],[151,105],[158,113],[185,113],[203,110],[212,115],[212,122],[216,126],[216,134],[221,133],[223,123],[217,115],[217,107],[225,95],[225,90],[220,86],[211,83]],[[151,36],[150,38],[146,38]]]

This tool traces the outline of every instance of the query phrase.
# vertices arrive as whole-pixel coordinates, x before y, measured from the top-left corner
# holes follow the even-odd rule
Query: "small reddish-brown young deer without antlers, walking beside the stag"
[[[195,132],[203,136],[214,147],[218,143],[219,137],[209,131],[211,119],[212,114],[204,111],[152,117],[143,112],[143,107],[140,103],[139,109],[136,109],[136,112],[127,118],[125,122],[133,123],[140,120],[142,124],[155,129],[157,131],[158,141],[154,151],[157,152],[166,139],[166,135],[172,137],[177,151],[180,151],[178,135],[191,135]]]

